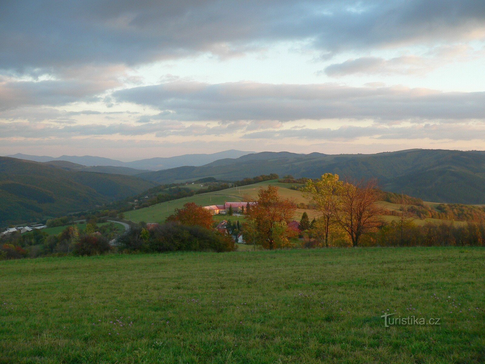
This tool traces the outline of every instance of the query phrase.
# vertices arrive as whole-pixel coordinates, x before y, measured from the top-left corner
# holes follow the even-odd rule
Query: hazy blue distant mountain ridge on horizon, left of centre
[[[84,166],[114,166],[114,167],[128,167],[134,169],[145,169],[145,170],[161,170],[168,168],[175,168],[183,165],[205,165],[214,162],[219,159],[224,158],[239,158],[244,155],[254,153],[251,151],[242,150],[225,150],[222,152],[211,153],[211,154],[185,154],[178,155],[174,157],[155,157],[148,159],[141,159],[133,162],[122,162],[115,159],[96,157],[91,155],[84,156],[73,156],[73,155],[63,155],[60,157],[49,157],[49,156],[38,156],[17,153],[13,155],[7,155],[6,157],[24,159],[28,161],[35,162],[51,162],[51,161],[66,161]],[[110,172],[107,172],[110,173]]]

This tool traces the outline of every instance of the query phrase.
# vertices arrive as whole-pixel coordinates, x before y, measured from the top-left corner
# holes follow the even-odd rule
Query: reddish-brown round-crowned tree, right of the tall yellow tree
[[[339,198],[332,199],[332,209],[339,225],[349,234],[354,247],[363,233],[381,225],[382,208],[377,205],[376,182],[363,180],[354,184],[345,182],[339,189]]]

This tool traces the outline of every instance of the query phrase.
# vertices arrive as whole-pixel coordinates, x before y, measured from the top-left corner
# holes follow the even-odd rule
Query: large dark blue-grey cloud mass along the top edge
[[[138,65],[210,52],[240,56],[282,41],[323,54],[481,39],[476,0],[36,0],[0,13],[0,68]]]

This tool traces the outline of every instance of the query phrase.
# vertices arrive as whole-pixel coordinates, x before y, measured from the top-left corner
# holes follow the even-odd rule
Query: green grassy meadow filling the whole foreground
[[[0,363],[483,363],[483,248],[0,262]],[[383,312],[440,318],[384,327]]]

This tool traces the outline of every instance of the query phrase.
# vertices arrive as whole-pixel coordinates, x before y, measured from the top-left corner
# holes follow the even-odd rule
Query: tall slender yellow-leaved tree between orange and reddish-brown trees
[[[330,229],[337,224],[333,206],[341,188],[339,175],[331,173],[325,173],[315,182],[309,180],[303,188],[303,196],[314,204],[321,214],[319,225],[323,228],[323,240],[327,248]]]

